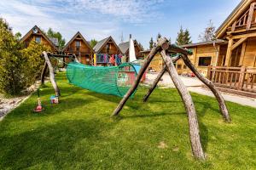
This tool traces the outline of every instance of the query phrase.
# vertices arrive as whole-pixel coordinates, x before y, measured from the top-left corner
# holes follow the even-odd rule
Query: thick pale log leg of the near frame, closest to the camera
[[[166,69],[172,78],[172,82],[177,88],[178,93],[180,94],[181,98],[183,99],[183,104],[186,108],[186,112],[189,119],[189,134],[190,134],[190,142],[193,154],[198,159],[205,159],[204,152],[201,146],[201,139],[200,139],[200,132],[199,132],[199,125],[197,121],[197,116],[195,113],[195,105],[193,100],[189,94],[189,91],[178,77],[176,68],[172,62],[172,59],[166,55],[166,51],[161,51],[161,56],[165,61]]]

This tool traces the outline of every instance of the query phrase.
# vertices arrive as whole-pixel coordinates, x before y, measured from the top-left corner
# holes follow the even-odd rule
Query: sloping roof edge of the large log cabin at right
[[[218,27],[216,37],[221,38],[226,32],[228,26],[230,26],[232,22],[243,13],[253,1],[254,0],[241,0],[241,3],[236,6],[228,18],[224,20],[221,26]]]

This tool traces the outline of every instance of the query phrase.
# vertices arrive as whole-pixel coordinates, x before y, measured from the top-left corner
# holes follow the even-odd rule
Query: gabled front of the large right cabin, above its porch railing
[[[255,67],[256,1],[241,1],[218,28],[217,37],[229,41],[224,66]]]

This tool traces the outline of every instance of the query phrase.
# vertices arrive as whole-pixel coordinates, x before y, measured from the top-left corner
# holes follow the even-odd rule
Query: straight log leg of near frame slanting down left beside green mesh
[[[124,98],[120,101],[117,108],[113,111],[112,116],[119,115],[119,111],[122,110],[126,101],[130,98],[131,94],[133,94],[134,91],[136,90],[138,84],[141,81],[141,78],[143,77],[144,72],[147,70],[148,65],[150,64],[151,60],[154,58],[154,55],[157,54],[161,48],[168,48],[168,41],[166,40],[166,38],[160,38],[156,47],[152,48],[151,52],[148,54],[148,57],[143,64],[141,70],[138,72],[135,82],[133,82],[131,88],[125,94]]]

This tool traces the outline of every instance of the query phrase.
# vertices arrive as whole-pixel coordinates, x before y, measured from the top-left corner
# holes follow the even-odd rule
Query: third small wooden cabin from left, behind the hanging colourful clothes
[[[113,37],[107,37],[96,43],[93,48],[96,56],[94,57],[94,65],[109,65],[109,58],[112,55],[122,54],[119,46],[114,42]]]

